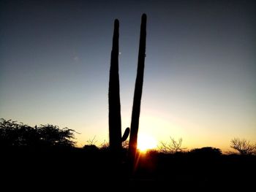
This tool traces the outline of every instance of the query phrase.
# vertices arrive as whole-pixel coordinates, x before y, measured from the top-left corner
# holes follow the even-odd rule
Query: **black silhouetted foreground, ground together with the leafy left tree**
[[[51,131],[44,132],[48,130],[45,126],[31,128],[6,120],[0,125],[1,188],[9,191],[75,191],[90,187],[96,191],[245,190],[255,183],[256,155],[222,155],[214,147],[174,154],[152,150],[138,153],[131,176],[127,148],[121,150],[121,163],[116,164],[108,147],[75,147],[69,140],[73,137],[70,129],[49,126]],[[59,134],[66,137],[57,137]],[[60,145],[59,139],[65,145]]]

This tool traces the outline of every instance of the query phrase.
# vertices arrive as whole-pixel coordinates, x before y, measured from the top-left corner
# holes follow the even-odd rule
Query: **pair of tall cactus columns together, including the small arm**
[[[120,105],[120,88],[118,74],[118,39],[119,39],[119,21],[116,19],[113,32],[113,47],[111,51],[110,61],[110,80],[108,88],[108,104],[109,104],[109,140],[110,150],[118,155],[121,150],[121,142],[124,142],[129,136],[129,128],[124,131],[121,137],[121,105]],[[131,165],[134,165],[137,152],[138,128],[140,119],[140,101],[143,90],[143,75],[145,66],[146,53],[146,14],[141,17],[140,26],[140,47],[138,54],[137,77],[135,81],[135,92],[132,105],[132,122],[131,133],[129,137],[129,159]]]

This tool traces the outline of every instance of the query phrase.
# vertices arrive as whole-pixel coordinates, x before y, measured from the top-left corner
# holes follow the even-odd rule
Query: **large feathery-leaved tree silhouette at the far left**
[[[74,130],[50,124],[31,127],[13,120],[0,121],[1,147],[74,147]]]

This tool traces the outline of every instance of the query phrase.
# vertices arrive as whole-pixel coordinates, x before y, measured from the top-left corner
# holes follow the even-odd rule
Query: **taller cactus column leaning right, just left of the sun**
[[[140,119],[140,101],[143,89],[143,75],[145,66],[145,53],[146,53],[146,14],[141,17],[140,26],[140,48],[138,55],[138,68],[137,77],[135,82],[135,92],[132,106],[132,122],[131,122],[131,133],[129,136],[129,157],[131,158],[132,164],[135,162],[137,152],[137,139],[138,139],[138,128]]]

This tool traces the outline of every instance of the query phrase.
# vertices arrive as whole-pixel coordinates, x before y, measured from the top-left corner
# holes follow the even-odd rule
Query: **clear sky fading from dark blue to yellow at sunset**
[[[108,142],[113,22],[122,131],[130,126],[140,17],[148,15],[139,137],[227,150],[256,142],[255,1],[1,1],[0,118]]]

